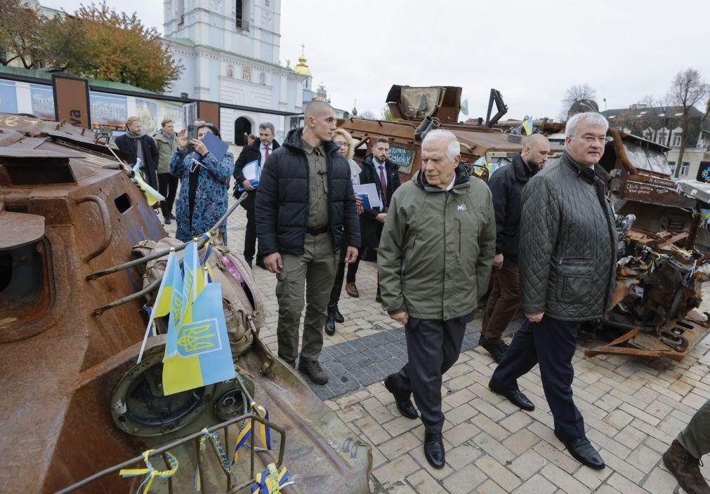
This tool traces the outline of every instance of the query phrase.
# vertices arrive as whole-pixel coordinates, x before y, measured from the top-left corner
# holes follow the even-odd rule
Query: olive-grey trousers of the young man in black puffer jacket
[[[306,234],[303,255],[281,254],[283,269],[276,275],[278,299],[278,356],[293,363],[298,356],[298,329],[305,293],[301,359],[317,361],[323,348],[323,326],[339,253],[333,252],[329,234]]]

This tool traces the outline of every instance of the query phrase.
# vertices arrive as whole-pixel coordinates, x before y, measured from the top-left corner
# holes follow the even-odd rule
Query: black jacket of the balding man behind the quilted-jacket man
[[[530,172],[520,153],[513,163],[498,168],[488,180],[496,211],[496,254],[503,254],[506,263],[518,263],[521,201],[528,180]]]

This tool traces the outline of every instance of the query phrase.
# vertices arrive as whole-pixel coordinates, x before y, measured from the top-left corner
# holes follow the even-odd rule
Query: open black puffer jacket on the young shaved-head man
[[[288,133],[283,146],[269,155],[256,194],[256,235],[259,250],[302,256],[308,226],[308,159],[301,143],[302,128]],[[348,160],[338,146],[323,143],[327,161],[328,226],[333,250],[360,246],[355,194]]]

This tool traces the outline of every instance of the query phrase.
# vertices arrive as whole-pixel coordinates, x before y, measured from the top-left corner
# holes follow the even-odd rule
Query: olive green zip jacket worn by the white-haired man
[[[456,168],[449,192],[422,172],[392,196],[377,268],[382,307],[417,319],[454,319],[476,309],[496,253],[496,216],[483,180]]]

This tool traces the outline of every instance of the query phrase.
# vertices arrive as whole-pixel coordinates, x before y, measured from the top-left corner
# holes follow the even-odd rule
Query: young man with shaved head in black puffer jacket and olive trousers
[[[259,251],[278,280],[278,356],[295,366],[307,284],[298,369],[317,384],[328,381],[318,357],[339,248],[347,246],[350,264],[360,245],[350,165],[330,141],[335,128],[331,106],[311,101],[305,127],[290,131],[266,161],[256,194]]]

